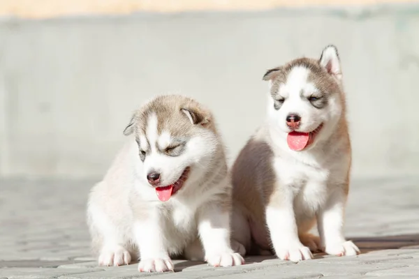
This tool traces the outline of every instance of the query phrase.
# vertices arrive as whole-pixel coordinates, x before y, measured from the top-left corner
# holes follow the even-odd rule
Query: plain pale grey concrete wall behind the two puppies
[[[0,176],[98,177],[158,93],[211,107],[230,160],[265,116],[267,68],[339,48],[353,175],[419,165],[419,6],[0,22]]]

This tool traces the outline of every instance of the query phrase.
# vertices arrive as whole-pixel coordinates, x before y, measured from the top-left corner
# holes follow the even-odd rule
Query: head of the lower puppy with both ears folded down
[[[140,176],[166,201],[211,162],[219,144],[212,114],[178,95],[159,96],[140,108],[124,130],[135,135]]]

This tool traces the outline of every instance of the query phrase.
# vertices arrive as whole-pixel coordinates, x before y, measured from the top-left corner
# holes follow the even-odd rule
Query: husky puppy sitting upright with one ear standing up
[[[273,248],[293,262],[318,249],[357,255],[343,232],[351,142],[336,47],[268,70],[263,80],[267,119],[232,169],[233,248]],[[309,234],[316,223],[320,239]]]

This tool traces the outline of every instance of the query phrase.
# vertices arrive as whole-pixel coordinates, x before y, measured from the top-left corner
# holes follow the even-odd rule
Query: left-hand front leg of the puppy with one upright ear
[[[298,238],[291,191],[284,189],[281,193],[277,191],[272,195],[266,208],[266,223],[279,259],[300,262],[313,257],[310,249],[302,245]]]

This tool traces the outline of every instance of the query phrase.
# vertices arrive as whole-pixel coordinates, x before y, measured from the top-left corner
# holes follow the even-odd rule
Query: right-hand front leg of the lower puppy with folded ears
[[[212,266],[237,266],[244,259],[230,246],[230,213],[226,206],[212,202],[198,213],[198,232],[205,250],[205,260]]]

